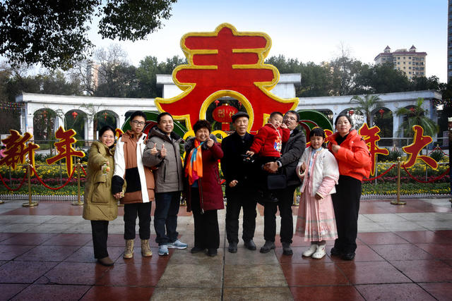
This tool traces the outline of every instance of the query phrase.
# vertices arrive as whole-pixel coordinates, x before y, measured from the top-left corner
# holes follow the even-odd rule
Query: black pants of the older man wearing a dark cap
[[[234,190],[234,188],[232,188]],[[256,199],[254,193],[248,190],[227,191],[226,206],[226,235],[228,242],[239,242],[239,214],[243,208],[243,234],[244,241],[254,238],[256,229]]]

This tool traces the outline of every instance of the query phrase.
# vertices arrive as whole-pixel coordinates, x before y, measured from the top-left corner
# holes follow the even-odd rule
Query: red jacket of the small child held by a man
[[[281,156],[283,142],[287,142],[290,137],[288,128],[276,129],[273,124],[267,123],[254,136],[250,151],[259,156]]]

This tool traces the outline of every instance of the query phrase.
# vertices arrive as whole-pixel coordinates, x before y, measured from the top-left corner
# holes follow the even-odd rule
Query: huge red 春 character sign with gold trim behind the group
[[[297,98],[281,99],[270,92],[278,69],[264,64],[271,39],[263,32],[237,32],[223,23],[214,32],[190,32],[181,39],[187,61],[172,73],[184,92],[170,99],[156,98],[160,111],[185,120],[186,128],[206,119],[208,106],[220,97],[233,97],[249,114],[249,130],[258,130],[272,111],[295,109]]]

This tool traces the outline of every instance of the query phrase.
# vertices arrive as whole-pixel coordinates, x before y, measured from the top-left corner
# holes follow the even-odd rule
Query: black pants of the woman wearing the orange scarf
[[[206,210],[201,214],[198,188],[191,188],[191,210],[195,226],[195,247],[218,249],[220,247],[220,228],[217,210]]]

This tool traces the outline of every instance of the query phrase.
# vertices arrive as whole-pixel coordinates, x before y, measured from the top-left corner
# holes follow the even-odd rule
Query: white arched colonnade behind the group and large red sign
[[[280,98],[295,97],[295,86],[301,83],[300,74],[281,74],[280,81],[271,92]],[[172,82],[171,75],[157,75],[157,85],[163,87],[163,97],[174,97],[180,93],[179,88]],[[427,116],[432,121],[437,122],[438,116],[434,100],[441,99],[441,93],[434,90],[427,91],[412,91],[412,92],[397,92],[379,94],[382,102],[385,103],[385,110],[392,112],[392,137],[398,137],[397,130],[402,122],[403,117],[396,116],[394,113],[400,107],[410,106],[415,104],[418,97],[424,98],[423,107],[427,111]],[[296,111],[300,110],[318,110],[331,111],[333,121],[335,116],[348,108],[352,108],[350,99],[352,95],[333,96],[333,97],[300,97],[299,104]],[[85,113],[89,112],[85,109],[87,106],[93,106],[97,112],[112,111],[117,115],[117,128],[121,128],[126,120],[126,112],[128,111],[157,111],[154,99],[128,99],[116,97],[76,97],[64,95],[48,95],[48,94],[31,94],[23,93],[16,97],[16,102],[24,102],[20,118],[20,130],[24,133],[33,133],[33,116],[35,111],[39,109],[49,108],[56,111],[59,116],[64,116],[65,113],[71,110],[81,110]],[[380,109],[380,108],[379,108]],[[371,125],[374,125],[374,115],[378,112],[376,109],[371,114]],[[330,117],[330,116],[328,116]],[[365,116],[364,116],[365,117]],[[58,118],[55,125],[64,125],[63,119]],[[371,126],[369,125],[369,126]],[[93,139],[93,118],[88,118],[86,125],[85,139]]]

